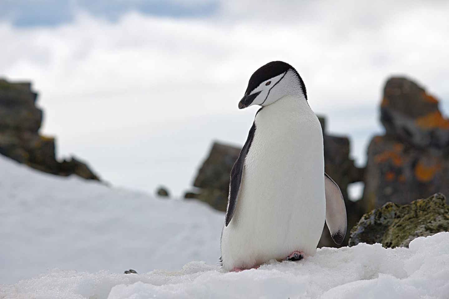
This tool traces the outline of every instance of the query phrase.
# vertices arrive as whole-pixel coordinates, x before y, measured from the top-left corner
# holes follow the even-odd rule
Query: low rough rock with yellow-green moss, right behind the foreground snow
[[[349,246],[382,243],[383,247],[408,247],[417,237],[449,231],[449,205],[436,193],[411,204],[384,204],[363,215],[351,230]]]

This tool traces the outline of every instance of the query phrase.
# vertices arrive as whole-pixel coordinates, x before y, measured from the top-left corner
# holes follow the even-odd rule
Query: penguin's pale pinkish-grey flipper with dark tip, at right
[[[326,193],[326,224],[334,242],[341,244],[348,226],[343,195],[339,186],[327,173],[324,173],[324,187]]]

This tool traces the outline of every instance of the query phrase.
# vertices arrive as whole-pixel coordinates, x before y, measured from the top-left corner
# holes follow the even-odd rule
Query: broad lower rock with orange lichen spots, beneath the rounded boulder
[[[440,151],[376,136],[368,147],[363,192],[365,211],[387,202],[409,204],[435,191],[449,194],[449,159]]]

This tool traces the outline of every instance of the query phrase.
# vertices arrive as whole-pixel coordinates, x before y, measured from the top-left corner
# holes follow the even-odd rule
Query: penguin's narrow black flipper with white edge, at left
[[[234,216],[235,208],[237,206],[238,193],[240,191],[240,183],[243,177],[243,167],[245,166],[245,158],[251,147],[252,140],[254,138],[255,123],[251,126],[250,132],[248,133],[247,141],[242,147],[237,160],[231,170],[231,180],[229,182],[229,196],[228,196],[228,208],[226,209],[226,221],[225,226],[228,226]]]

